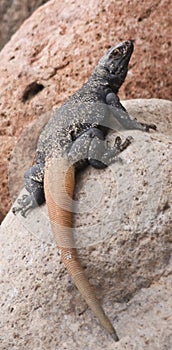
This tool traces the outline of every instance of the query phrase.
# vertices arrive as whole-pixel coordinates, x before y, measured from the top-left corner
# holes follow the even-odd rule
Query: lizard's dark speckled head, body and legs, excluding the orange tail
[[[131,142],[128,138],[122,143],[117,137],[110,148],[105,142],[108,130],[155,129],[154,125],[132,120],[117,95],[132,52],[131,40],[109,49],[83,87],[54,113],[39,137],[36,163],[25,173],[29,195],[19,199],[13,212],[21,211],[24,216],[29,208],[44,202],[44,168],[48,159],[65,157],[76,168],[87,164],[104,168]]]

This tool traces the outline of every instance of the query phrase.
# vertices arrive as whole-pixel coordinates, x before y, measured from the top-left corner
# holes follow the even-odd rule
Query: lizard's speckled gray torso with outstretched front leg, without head
[[[38,141],[37,161],[69,152],[74,141],[91,128],[101,130],[104,136],[108,129],[146,130],[145,126],[131,120],[108,83],[93,74],[46,125]]]

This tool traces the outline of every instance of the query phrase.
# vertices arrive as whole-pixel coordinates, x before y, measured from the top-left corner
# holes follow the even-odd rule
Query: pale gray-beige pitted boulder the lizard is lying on
[[[127,133],[134,142],[120,159],[105,170],[89,167],[75,192],[80,259],[120,341],[112,342],[71,283],[44,206],[26,219],[10,212],[2,224],[0,349],[172,347],[171,124],[169,117],[163,129],[161,101],[157,108],[142,102],[128,101],[127,109],[158,122],[158,131]]]

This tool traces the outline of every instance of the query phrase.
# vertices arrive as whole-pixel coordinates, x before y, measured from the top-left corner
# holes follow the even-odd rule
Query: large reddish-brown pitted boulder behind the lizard
[[[15,4],[19,2],[11,6]],[[20,4],[24,13],[27,5]],[[0,155],[1,217],[10,207],[6,159],[16,140],[30,122],[50,115],[82,86],[109,46],[135,40],[121,98],[170,99],[170,5],[170,0],[132,0],[127,6],[121,0],[48,1],[13,35],[0,53],[0,143],[5,143]],[[7,11],[10,19],[15,17],[12,8]]]

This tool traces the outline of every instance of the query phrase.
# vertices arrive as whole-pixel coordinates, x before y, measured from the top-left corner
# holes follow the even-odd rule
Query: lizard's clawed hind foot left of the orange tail
[[[35,199],[31,195],[24,194],[17,200],[17,206],[12,208],[12,213],[16,215],[17,212],[23,217],[26,217],[26,213],[29,209],[37,207]]]

